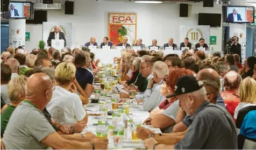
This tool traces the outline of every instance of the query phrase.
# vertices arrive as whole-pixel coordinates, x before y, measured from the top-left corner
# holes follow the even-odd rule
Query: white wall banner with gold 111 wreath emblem
[[[180,26],[180,42],[184,42],[184,38],[188,38],[192,45],[196,45],[199,39],[204,38],[205,44],[210,45],[210,26],[208,25],[194,25],[194,26]]]

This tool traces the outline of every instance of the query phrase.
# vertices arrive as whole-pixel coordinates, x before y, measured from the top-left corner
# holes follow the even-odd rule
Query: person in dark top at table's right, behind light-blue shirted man
[[[137,90],[138,92],[144,92],[147,89],[147,78],[143,77],[139,73],[139,66],[140,66],[141,60],[140,58],[135,58],[132,62],[132,71],[133,76],[132,79],[129,81],[126,81],[126,84],[129,85],[128,90]],[[136,78],[134,78],[134,73],[138,72],[138,75]],[[133,81],[134,78],[134,81]]]

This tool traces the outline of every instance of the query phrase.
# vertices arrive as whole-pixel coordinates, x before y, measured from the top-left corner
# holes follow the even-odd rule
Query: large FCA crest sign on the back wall
[[[124,37],[132,44],[137,36],[137,13],[109,13],[109,40],[113,45],[122,43]]]

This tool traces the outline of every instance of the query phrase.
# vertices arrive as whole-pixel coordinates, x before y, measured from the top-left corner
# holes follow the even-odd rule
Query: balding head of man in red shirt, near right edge
[[[225,89],[235,90],[239,88],[240,82],[242,78],[241,76],[234,71],[230,71],[224,76],[224,87]]]

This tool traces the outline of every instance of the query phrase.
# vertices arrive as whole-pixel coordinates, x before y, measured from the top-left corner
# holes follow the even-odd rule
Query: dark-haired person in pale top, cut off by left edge
[[[12,70],[9,65],[1,63],[1,98],[5,104],[10,103],[8,83],[11,80]]]

